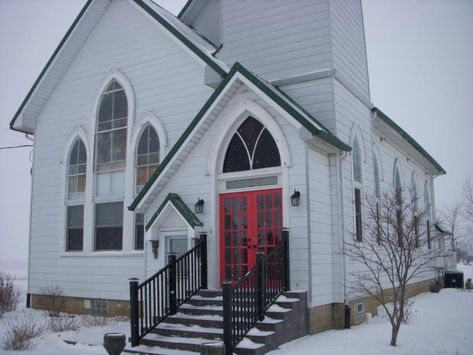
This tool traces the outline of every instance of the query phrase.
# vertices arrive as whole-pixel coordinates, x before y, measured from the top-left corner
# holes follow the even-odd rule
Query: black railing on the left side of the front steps
[[[151,332],[200,289],[207,288],[207,237],[141,284],[130,279],[131,346]]]

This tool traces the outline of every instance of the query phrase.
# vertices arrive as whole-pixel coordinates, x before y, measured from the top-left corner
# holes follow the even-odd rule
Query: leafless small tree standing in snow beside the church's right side
[[[380,200],[366,198],[362,242],[348,242],[345,254],[360,263],[353,273],[353,289],[373,297],[391,322],[392,346],[396,345],[402,322],[411,313],[408,285],[432,271],[425,212],[417,207],[415,193],[401,189],[386,193]]]

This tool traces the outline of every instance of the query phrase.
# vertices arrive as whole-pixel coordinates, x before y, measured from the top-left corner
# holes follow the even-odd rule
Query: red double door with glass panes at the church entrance
[[[281,241],[281,189],[220,195],[220,281],[236,281]]]

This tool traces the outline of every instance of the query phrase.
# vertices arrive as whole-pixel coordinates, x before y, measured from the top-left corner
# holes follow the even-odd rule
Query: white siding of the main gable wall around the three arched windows
[[[110,3],[37,120],[30,293],[39,293],[41,288],[54,284],[63,288],[67,296],[127,300],[128,278],[144,276],[143,253],[133,251],[134,218],[129,211],[124,211],[124,251],[91,255],[94,211],[90,205],[84,210],[84,234],[89,236],[84,239],[84,252],[80,256],[63,256],[61,250],[66,218],[61,152],[66,137],[78,126],[84,127],[90,142],[88,150],[93,151],[94,102],[101,94],[101,81],[111,69],[120,70],[131,82],[138,98],[135,117],[148,112],[158,115],[171,147],[212,90],[204,85],[203,65],[164,33],[154,19],[128,1]],[[87,169],[92,171],[93,159],[89,157],[88,161]],[[130,203],[131,200],[124,201],[125,210]]]

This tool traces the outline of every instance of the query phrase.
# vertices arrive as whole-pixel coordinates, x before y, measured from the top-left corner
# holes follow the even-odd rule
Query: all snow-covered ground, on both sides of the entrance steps
[[[464,279],[473,278],[473,265],[458,265],[464,272]],[[24,275],[18,275],[18,285],[24,289]],[[22,277],[23,276],[23,277]],[[401,327],[398,346],[389,346],[390,324],[386,317],[373,317],[369,324],[362,324],[347,330],[330,330],[314,336],[307,336],[283,345],[271,352],[278,354],[311,355],[472,355],[473,354],[473,291],[443,289],[440,293],[424,293],[415,297],[415,314],[409,324]],[[0,319],[0,339],[5,325],[21,316],[34,317],[47,322],[42,311],[25,309],[24,302],[16,312],[7,313]],[[102,343],[107,332],[119,332],[129,336],[127,321],[112,321],[105,327],[81,327],[76,332],[47,333],[37,340],[34,349],[25,352],[6,351],[0,354],[19,355],[103,355]],[[78,342],[66,344],[64,340]],[[141,350],[149,348],[140,347]],[[163,353],[169,353],[163,351]],[[175,353],[175,352],[172,352]]]

